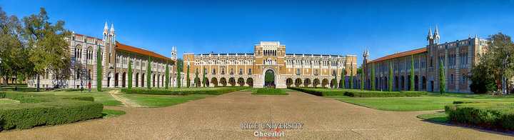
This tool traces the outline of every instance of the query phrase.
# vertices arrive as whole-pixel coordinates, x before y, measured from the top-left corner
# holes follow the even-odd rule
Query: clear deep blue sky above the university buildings
[[[0,1],[8,15],[39,13],[78,34],[101,38],[114,22],[116,40],[170,56],[253,53],[281,41],[288,54],[357,55],[371,59],[425,47],[428,27],[440,42],[514,36],[514,1]]]

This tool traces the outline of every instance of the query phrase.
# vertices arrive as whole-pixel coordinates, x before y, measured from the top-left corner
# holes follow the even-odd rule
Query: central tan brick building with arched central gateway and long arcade
[[[267,71],[273,72],[277,88],[286,86],[341,86],[341,74],[349,84],[350,69],[356,74],[357,56],[322,54],[286,54],[286,45],[279,41],[261,41],[252,54],[183,54],[183,71],[191,86],[194,81],[206,86],[254,86],[263,87]],[[198,80],[195,73],[198,71]],[[206,80],[201,80],[205,71]],[[338,76],[336,85],[335,74]],[[358,80],[353,84],[358,88]],[[186,74],[181,83],[186,86]]]

